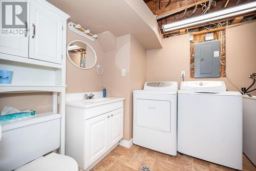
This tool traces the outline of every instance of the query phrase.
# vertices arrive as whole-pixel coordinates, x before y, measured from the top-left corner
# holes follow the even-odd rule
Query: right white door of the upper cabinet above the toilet
[[[61,63],[62,18],[33,1],[30,7],[29,58]]]

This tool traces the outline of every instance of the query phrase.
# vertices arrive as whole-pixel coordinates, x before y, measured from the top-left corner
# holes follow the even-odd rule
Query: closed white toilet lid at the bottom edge
[[[18,169],[18,171],[78,171],[77,162],[64,155],[51,153],[45,157],[34,160]]]

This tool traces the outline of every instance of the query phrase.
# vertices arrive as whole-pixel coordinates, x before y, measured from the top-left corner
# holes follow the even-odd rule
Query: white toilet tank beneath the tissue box
[[[1,124],[0,170],[13,170],[57,149],[60,146],[60,117],[44,113]]]

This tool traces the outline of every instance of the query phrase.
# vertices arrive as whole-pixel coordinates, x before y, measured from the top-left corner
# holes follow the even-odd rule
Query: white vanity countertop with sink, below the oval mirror
[[[124,100],[123,97],[99,97],[93,99],[76,99],[66,101],[66,105],[75,106],[78,108],[92,108],[94,106],[108,104],[112,102],[117,102]]]

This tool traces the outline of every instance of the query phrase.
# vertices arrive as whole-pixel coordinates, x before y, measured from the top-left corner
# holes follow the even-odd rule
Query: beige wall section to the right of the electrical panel
[[[227,77],[238,88],[248,88],[252,83],[248,75],[256,73],[256,21],[227,28],[226,52]],[[256,83],[251,89],[255,88]]]

